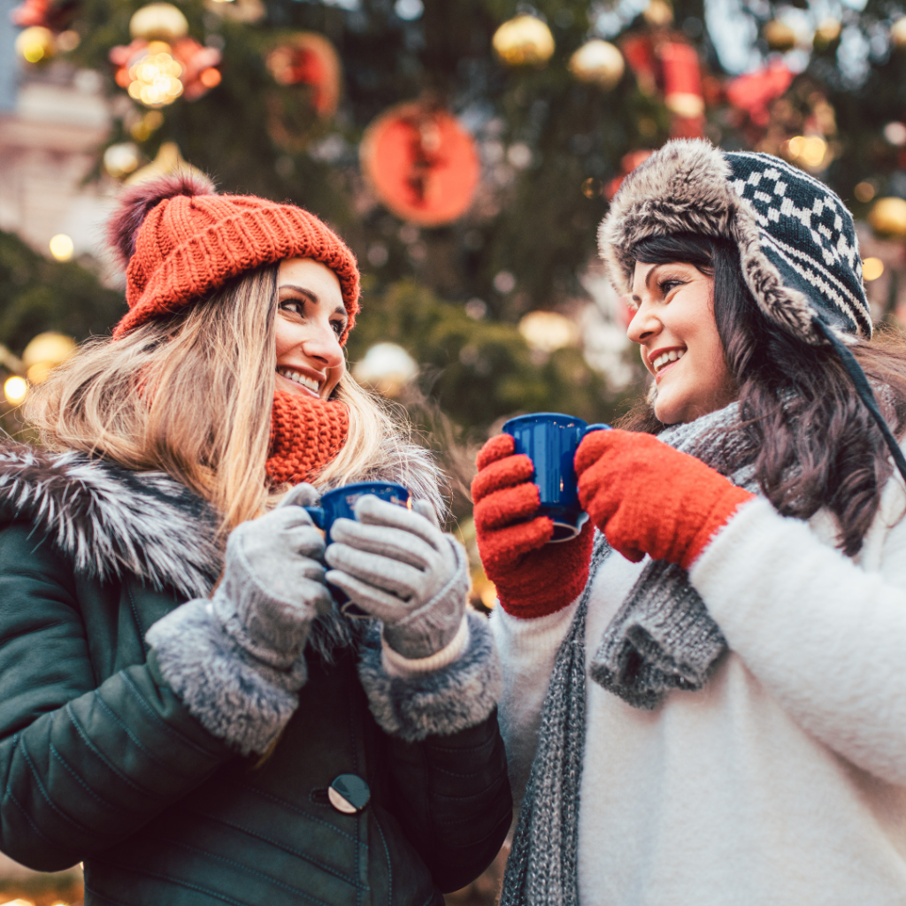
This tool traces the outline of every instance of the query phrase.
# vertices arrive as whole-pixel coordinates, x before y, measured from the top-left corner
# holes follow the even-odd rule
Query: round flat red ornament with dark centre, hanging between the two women
[[[472,137],[448,111],[410,101],[371,123],[361,141],[362,169],[381,201],[421,226],[466,213],[481,168]]]

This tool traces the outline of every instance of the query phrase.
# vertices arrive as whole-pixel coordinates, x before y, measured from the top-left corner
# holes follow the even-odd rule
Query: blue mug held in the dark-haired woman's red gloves
[[[525,453],[535,465],[535,485],[541,497],[538,515],[554,520],[552,543],[569,541],[588,522],[588,514],[579,503],[573,459],[586,434],[610,427],[589,425],[583,419],[561,412],[520,415],[504,425],[504,433],[516,441],[516,453]]]

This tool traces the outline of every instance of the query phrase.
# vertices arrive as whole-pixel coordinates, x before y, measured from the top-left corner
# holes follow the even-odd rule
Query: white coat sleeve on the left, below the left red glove
[[[538,728],[554,659],[573,622],[578,599],[569,607],[534,620],[519,620],[502,607],[491,613],[491,631],[500,653],[504,692],[498,717],[506,746],[513,801],[522,802],[538,746]]]

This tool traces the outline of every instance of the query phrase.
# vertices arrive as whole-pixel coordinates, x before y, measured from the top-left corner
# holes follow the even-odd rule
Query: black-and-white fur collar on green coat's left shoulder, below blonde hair
[[[207,503],[163,472],[132,472],[82,453],[0,448],[0,518],[34,525],[77,572],[101,582],[134,574],[188,598],[222,565]]]

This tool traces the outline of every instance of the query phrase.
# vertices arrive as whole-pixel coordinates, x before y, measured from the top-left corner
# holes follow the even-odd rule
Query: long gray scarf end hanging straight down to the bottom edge
[[[610,548],[595,535],[591,576]],[[585,586],[554,660],[538,748],[506,860],[500,906],[579,906],[579,791],[585,749]]]

